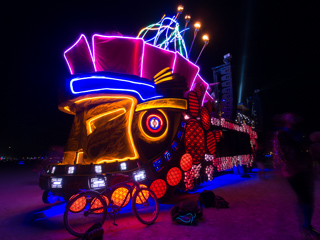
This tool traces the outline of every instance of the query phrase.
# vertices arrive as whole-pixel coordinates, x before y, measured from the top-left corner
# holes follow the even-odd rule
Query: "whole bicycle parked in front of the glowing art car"
[[[124,196],[122,201],[114,197],[119,195]],[[100,222],[102,225],[107,216],[113,218],[113,224],[117,226],[115,220],[130,199],[132,212],[141,223],[151,225],[156,221],[159,203],[155,193],[131,175],[130,180],[110,187],[106,185],[101,192],[82,190],[72,196],[64,212],[65,227],[72,235],[83,237],[93,224]]]

